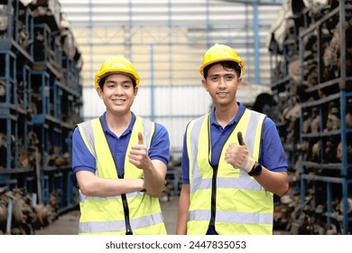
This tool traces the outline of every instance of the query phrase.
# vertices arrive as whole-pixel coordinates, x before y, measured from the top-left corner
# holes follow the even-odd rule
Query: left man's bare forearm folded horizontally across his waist
[[[107,197],[144,190],[143,179],[107,179],[88,171],[76,173],[80,191],[89,196]]]

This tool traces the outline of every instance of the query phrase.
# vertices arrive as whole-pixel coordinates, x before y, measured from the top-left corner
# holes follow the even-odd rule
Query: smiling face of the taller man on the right
[[[234,69],[224,68],[218,63],[209,68],[202,83],[216,108],[232,108],[236,106],[236,92],[241,81]]]

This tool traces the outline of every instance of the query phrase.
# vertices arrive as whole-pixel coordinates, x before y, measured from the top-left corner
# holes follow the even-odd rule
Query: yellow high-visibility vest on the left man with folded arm
[[[80,123],[78,126],[89,152],[96,157],[97,176],[116,179],[118,177],[116,164],[99,118]],[[144,144],[149,148],[154,128],[153,122],[136,117],[126,154],[129,154],[132,145],[138,143],[138,132],[144,133]],[[131,164],[128,161],[128,155],[125,155],[124,178],[142,177],[143,170]],[[159,199],[145,192],[93,197],[86,196],[79,191],[79,207],[81,211],[79,234],[124,235],[126,227],[130,227],[134,235],[166,234]],[[127,221],[129,226],[126,224]]]

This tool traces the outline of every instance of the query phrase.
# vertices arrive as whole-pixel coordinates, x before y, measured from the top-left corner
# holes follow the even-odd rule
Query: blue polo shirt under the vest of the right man
[[[238,120],[245,111],[245,106],[237,102],[239,108],[236,117],[228,123],[225,128],[220,126],[215,118],[215,108],[210,111],[210,133],[211,133],[211,164],[218,164],[221,151],[227,137],[232,133]],[[283,144],[277,132],[273,120],[266,117],[264,120],[262,135],[262,145],[260,150],[260,164],[268,170],[274,172],[287,172],[287,161],[283,151]],[[227,148],[227,147],[224,147]],[[183,137],[183,151],[182,151],[182,181],[183,183],[190,183],[190,160],[187,155],[186,135]]]

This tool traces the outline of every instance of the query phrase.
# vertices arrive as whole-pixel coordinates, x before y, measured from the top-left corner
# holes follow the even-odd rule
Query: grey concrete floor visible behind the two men
[[[169,235],[176,233],[179,197],[171,196],[169,201],[161,201],[162,214]],[[79,210],[69,211],[49,226],[35,230],[36,235],[77,235],[79,233]]]

